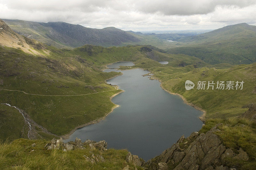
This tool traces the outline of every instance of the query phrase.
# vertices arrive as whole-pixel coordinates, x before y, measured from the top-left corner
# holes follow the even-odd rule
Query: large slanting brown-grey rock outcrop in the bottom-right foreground
[[[193,132],[188,138],[184,135],[177,143],[161,155],[148,160],[143,166],[148,169],[230,169],[226,159],[248,160],[243,149],[234,153],[226,148],[220,138],[214,133],[220,131],[218,124],[206,133]]]

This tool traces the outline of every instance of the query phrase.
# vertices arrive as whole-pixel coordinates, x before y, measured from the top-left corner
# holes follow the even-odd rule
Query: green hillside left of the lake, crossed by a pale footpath
[[[1,89],[31,94],[76,95],[115,90],[104,81],[120,73],[102,73],[82,58],[44,58],[20,50],[1,49]],[[52,133],[64,135],[78,125],[104,116],[114,104],[109,91],[87,96],[33,96],[22,92],[0,91],[0,102],[14,105]]]

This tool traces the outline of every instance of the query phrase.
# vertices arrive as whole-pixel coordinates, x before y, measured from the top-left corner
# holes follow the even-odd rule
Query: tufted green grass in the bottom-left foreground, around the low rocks
[[[31,145],[36,143],[35,147]],[[18,139],[12,143],[0,143],[0,169],[122,169],[129,165],[125,161],[127,150],[108,149],[99,151],[84,150],[61,151],[46,150],[45,140]],[[32,151],[34,150],[34,151]],[[83,157],[101,155],[105,161],[91,163]]]

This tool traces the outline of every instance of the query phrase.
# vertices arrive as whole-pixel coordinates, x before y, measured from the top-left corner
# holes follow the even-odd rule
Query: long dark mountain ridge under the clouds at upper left
[[[84,44],[116,46],[122,43],[139,42],[131,33],[107,27],[87,28],[65,22],[31,22],[4,19],[15,32],[56,47],[80,47]]]

